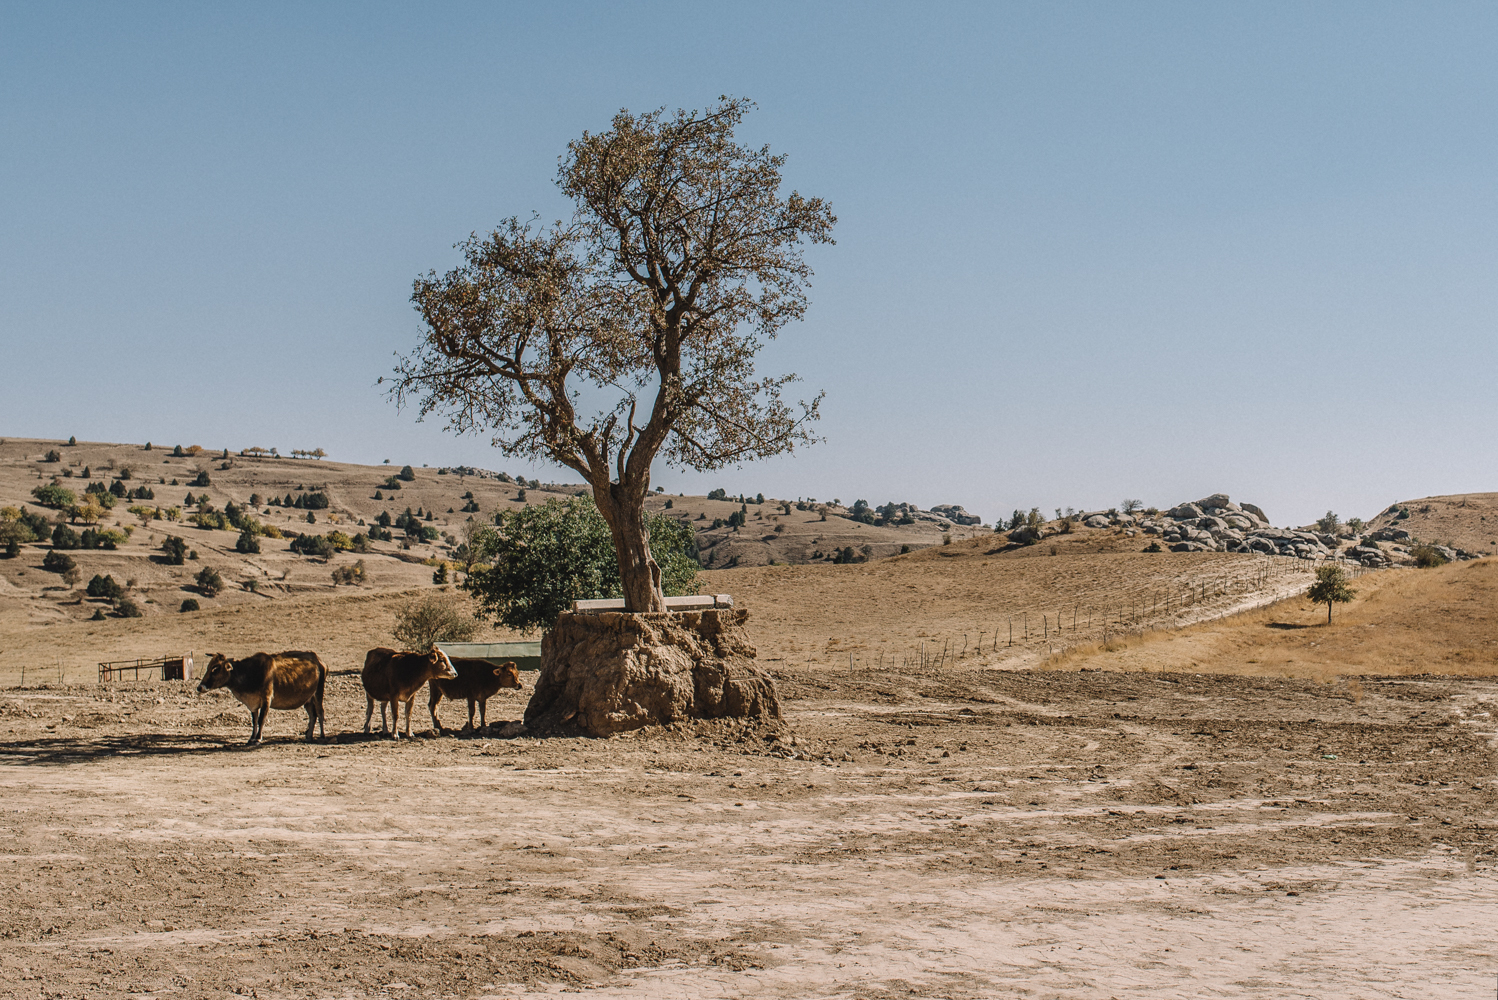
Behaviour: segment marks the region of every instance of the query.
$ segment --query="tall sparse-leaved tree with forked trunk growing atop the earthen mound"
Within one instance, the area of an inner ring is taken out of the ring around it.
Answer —
[[[785,157],[734,129],[753,105],[620,111],[568,145],[571,220],[511,217],[416,278],[421,344],[392,395],[506,455],[578,472],[608,524],[629,611],[661,611],[644,500],[658,455],[713,470],[810,443],[821,395],[755,355],[806,311],[807,243],[831,243],[819,198],[780,195]]]

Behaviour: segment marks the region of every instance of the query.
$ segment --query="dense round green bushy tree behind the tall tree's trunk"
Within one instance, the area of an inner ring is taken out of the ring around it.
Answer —
[[[695,533],[676,518],[647,518],[650,554],[661,566],[668,597],[694,593]],[[574,600],[622,597],[614,540],[593,499],[547,500],[505,510],[496,531],[485,533],[475,567],[463,587],[479,614],[508,629],[550,629]]]

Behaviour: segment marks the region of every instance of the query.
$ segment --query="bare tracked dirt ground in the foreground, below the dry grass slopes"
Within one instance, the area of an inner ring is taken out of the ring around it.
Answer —
[[[345,674],[259,749],[181,683],[6,690],[0,994],[1492,988],[1495,681],[777,678],[773,729],[397,744]]]

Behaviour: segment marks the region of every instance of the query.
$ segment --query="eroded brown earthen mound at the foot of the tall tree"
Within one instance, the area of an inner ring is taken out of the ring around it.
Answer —
[[[595,737],[686,719],[779,719],[743,609],[563,614],[541,639],[532,731]]]

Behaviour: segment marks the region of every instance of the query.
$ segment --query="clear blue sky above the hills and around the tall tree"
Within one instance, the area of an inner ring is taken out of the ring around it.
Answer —
[[[1492,4],[12,3],[0,93],[0,434],[521,472],[374,385],[412,278],[743,94],[839,216],[764,356],[827,442],[667,490],[1498,490]]]

